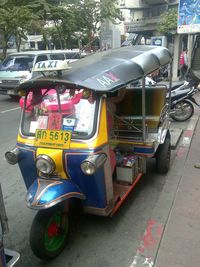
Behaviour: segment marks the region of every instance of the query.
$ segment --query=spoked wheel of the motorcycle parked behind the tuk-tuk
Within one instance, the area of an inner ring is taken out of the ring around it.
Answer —
[[[186,121],[194,114],[194,107],[190,101],[184,100],[177,103],[173,108],[170,116],[175,121]]]

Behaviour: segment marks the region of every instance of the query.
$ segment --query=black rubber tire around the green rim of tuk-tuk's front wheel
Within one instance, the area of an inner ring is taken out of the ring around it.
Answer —
[[[54,206],[46,210],[40,210],[36,214],[30,231],[29,242],[33,253],[40,259],[51,260],[58,256],[61,251],[65,248],[68,228],[65,233],[64,240],[57,250],[50,251],[45,246],[45,233],[47,232],[47,226],[50,223],[51,218],[57,213],[61,212],[62,220],[66,222],[67,227],[69,226],[68,214],[63,211],[62,206]],[[65,225],[66,226],[66,225]],[[62,230],[64,232],[64,230]]]

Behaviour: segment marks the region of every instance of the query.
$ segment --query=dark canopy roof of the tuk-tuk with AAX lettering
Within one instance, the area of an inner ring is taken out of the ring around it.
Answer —
[[[171,60],[171,54],[164,47],[122,47],[87,56],[71,63],[71,68],[57,77],[32,79],[22,84],[20,89],[29,89],[37,85],[50,86],[61,82],[77,88],[101,92],[114,91],[141,79]]]

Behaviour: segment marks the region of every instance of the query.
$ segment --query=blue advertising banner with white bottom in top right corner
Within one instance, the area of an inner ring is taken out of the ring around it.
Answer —
[[[200,32],[200,0],[179,0],[178,33]]]

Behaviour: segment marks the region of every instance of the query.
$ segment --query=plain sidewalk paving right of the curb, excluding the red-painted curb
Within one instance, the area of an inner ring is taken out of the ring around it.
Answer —
[[[154,259],[156,267],[200,266],[200,169],[194,167],[195,163],[200,163],[200,120],[188,148],[182,177]]]

